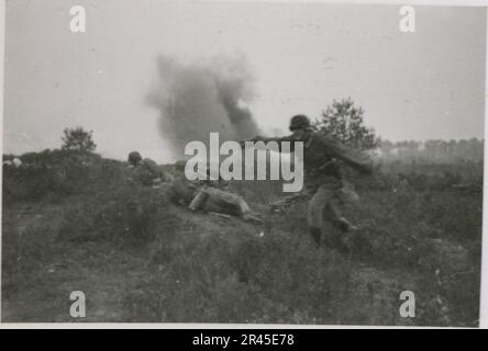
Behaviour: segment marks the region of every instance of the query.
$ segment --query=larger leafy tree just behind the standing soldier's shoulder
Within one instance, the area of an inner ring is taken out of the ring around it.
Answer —
[[[375,131],[364,125],[364,109],[355,106],[351,98],[333,100],[314,127],[353,148],[368,150],[380,144]]]

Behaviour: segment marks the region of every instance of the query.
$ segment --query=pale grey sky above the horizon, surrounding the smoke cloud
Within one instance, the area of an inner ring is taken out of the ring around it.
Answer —
[[[86,9],[71,33],[69,9]],[[260,131],[317,118],[351,97],[385,139],[484,136],[486,9],[399,5],[15,0],[7,2],[3,151],[60,146],[65,127],[93,131],[97,151],[173,161],[147,95],[164,55],[192,65],[239,58],[252,72],[247,102]],[[209,126],[209,133],[212,126]]]

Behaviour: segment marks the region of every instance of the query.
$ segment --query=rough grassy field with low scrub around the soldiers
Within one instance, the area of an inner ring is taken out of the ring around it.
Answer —
[[[79,290],[84,321],[478,324],[481,163],[396,162],[354,180],[362,229],[343,254],[312,245],[306,203],[269,212],[278,183],[230,185],[257,226],[190,213],[97,155],[22,158],[3,170],[2,321],[78,321]],[[399,314],[402,291],[414,318]]]

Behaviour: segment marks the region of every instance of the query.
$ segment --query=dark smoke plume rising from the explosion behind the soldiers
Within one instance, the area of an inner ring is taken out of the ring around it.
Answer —
[[[243,59],[218,58],[212,65],[184,65],[167,57],[157,60],[160,86],[148,102],[160,111],[159,129],[180,158],[191,140],[208,143],[249,138],[258,133],[245,103],[253,99],[252,76]]]

